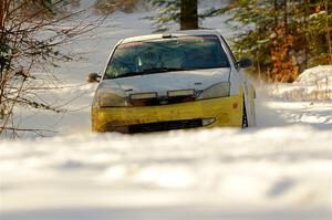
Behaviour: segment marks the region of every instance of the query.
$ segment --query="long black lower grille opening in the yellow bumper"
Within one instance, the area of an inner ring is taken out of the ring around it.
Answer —
[[[165,132],[172,129],[195,128],[201,126],[203,126],[203,119],[172,121],[172,122],[162,122],[162,123],[131,125],[128,126],[128,132],[129,134],[151,133],[151,132]]]

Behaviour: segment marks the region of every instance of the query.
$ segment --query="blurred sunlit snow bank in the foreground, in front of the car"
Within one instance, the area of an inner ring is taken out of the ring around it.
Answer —
[[[331,140],[303,126],[2,140],[2,214],[199,207],[217,217],[315,210],[328,219]]]

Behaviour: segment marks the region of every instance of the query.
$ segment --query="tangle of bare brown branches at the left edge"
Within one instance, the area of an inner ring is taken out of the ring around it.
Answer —
[[[105,19],[92,19],[86,10],[66,11],[68,6],[66,0],[0,0],[0,136],[8,124],[14,125],[15,105],[65,113],[65,106],[82,95],[53,105],[38,91],[59,88],[56,76],[48,71],[33,73],[35,67],[71,61],[73,54],[61,46]]]

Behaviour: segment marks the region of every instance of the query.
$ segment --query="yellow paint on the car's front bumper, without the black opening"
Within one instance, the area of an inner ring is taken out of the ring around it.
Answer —
[[[158,123],[168,121],[215,118],[211,127],[242,126],[242,96],[211,98],[180,104],[144,106],[144,107],[112,107],[92,109],[92,130],[104,130],[106,124],[114,127],[136,124]]]

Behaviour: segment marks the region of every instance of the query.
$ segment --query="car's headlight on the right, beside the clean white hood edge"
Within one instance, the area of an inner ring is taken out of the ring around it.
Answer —
[[[197,99],[215,98],[215,97],[227,97],[229,96],[230,83],[222,82],[215,84],[200,93]]]

